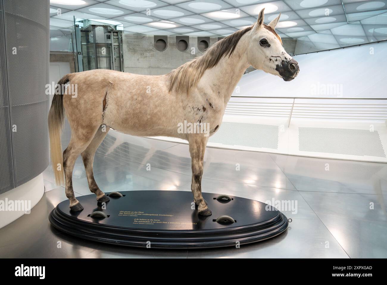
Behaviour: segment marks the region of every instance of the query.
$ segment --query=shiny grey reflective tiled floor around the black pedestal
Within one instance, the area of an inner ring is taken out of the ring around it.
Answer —
[[[69,138],[67,131],[64,146]],[[239,249],[156,250],[89,242],[50,226],[48,213],[67,198],[49,167],[43,173],[46,193],[31,214],[0,229],[0,257],[387,257],[387,164],[216,148],[207,148],[204,160],[203,192],[289,202],[291,207],[281,206],[292,219],[288,230]],[[94,160],[96,182],[106,192],[190,191],[190,168],[186,144],[115,131]],[[73,185],[76,195],[90,193],[80,158]]]

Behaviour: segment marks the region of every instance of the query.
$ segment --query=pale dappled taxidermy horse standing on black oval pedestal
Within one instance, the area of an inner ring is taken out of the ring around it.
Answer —
[[[281,38],[274,30],[279,17],[266,25],[262,10],[254,25],[223,38],[204,55],[168,74],[145,76],[96,69],[67,74],[60,79],[58,85],[77,85],[76,97],[56,92],[48,115],[55,180],[58,185],[63,185],[65,178],[71,210],[83,209],[75,199],[72,187],[72,172],[79,154],[90,191],[96,194],[98,202],[109,201],[94,180],[93,159],[106,133],[113,128],[136,136],[171,136],[188,140],[194,201],[200,215],[211,215],[201,189],[204,151],[208,137],[219,130],[236,84],[250,65],[285,81],[298,74],[297,62],[285,52]],[[63,110],[72,135],[62,155]],[[209,131],[207,135],[182,133],[178,131],[178,125],[183,122],[205,123]]]

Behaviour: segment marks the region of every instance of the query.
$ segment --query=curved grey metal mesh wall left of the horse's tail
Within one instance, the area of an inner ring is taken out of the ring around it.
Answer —
[[[0,0],[0,194],[49,163],[48,9],[48,0]]]

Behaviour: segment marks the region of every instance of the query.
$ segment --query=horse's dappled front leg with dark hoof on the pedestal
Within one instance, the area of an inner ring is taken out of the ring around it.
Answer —
[[[207,145],[208,137],[203,134],[188,135],[190,144],[190,154],[192,161],[192,184],[191,190],[194,194],[195,203],[198,205],[198,212],[202,216],[211,216],[211,211],[202,196],[202,174],[205,145]]]

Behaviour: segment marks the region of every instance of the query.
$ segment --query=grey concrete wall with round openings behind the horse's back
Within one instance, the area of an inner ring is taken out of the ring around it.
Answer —
[[[210,46],[216,43],[217,36],[210,37]],[[202,55],[197,47],[197,37],[189,37],[187,51],[181,52],[176,48],[176,36],[168,36],[168,47],[159,52],[154,47],[154,36],[142,34],[123,34],[124,71],[136,74],[160,75],[170,72],[185,62]],[[284,39],[285,50],[293,55],[296,40]],[[194,48],[195,53],[192,52]],[[248,71],[254,70],[249,67]]]

